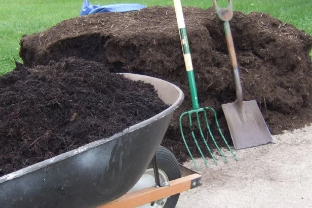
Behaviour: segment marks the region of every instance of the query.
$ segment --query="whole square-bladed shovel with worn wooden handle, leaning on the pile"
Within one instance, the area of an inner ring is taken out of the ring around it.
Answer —
[[[219,19],[223,21],[227,49],[233,67],[237,100],[221,106],[234,147],[238,150],[271,143],[272,136],[266,126],[257,102],[255,100],[243,101],[239,68],[229,26],[229,20],[233,17],[232,1],[228,0],[228,6],[225,9],[221,9],[217,5],[216,0],[213,0],[213,4]]]

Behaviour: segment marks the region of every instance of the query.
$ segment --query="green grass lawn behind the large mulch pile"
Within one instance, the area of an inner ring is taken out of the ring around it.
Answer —
[[[168,0],[124,0],[99,1],[90,0],[91,4],[138,3],[146,6],[173,6]],[[2,0],[0,13],[0,75],[14,68],[15,57],[19,58],[19,41],[24,34],[40,32],[51,26],[79,16],[83,0]],[[220,6],[226,6],[226,0],[219,0]],[[212,1],[182,0],[183,6],[201,8],[212,7]],[[312,1],[311,0],[233,0],[235,10],[248,13],[250,11],[269,13],[284,22],[295,25],[298,29],[312,34]]]

